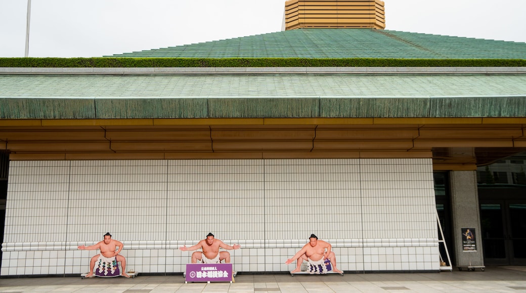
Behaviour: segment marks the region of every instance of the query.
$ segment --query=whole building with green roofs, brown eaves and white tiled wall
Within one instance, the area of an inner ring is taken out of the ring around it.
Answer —
[[[524,59],[526,44],[299,28],[114,58],[349,56]],[[106,232],[124,243],[127,268],[143,274],[183,273],[190,253],[178,247],[209,232],[241,245],[230,251],[240,273],[291,270],[285,260],[311,233],[332,244],[345,271],[483,266],[477,168],[526,149],[524,67],[0,74],[2,276],[83,273],[95,252],[77,246]],[[439,213],[437,174],[448,197]],[[476,232],[474,251],[466,228]]]

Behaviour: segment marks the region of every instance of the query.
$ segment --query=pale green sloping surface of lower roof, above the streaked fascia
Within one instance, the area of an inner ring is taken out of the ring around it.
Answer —
[[[0,98],[526,96],[518,74],[4,75]]]

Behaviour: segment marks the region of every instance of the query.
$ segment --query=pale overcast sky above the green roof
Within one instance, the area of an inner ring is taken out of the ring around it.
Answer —
[[[386,29],[526,43],[526,0],[384,0]],[[99,57],[279,32],[285,0],[32,0],[29,57]],[[24,57],[27,0],[0,0],[0,57]]]

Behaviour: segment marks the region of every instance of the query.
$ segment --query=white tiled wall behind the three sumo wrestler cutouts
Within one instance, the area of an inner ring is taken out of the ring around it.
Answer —
[[[430,159],[13,161],[2,275],[79,274],[106,232],[127,269],[180,273],[212,232],[237,271],[286,271],[311,233],[343,270],[438,270]]]

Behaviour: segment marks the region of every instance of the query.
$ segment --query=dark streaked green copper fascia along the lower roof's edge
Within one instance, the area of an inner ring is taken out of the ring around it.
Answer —
[[[524,97],[0,99],[0,119],[526,117]]]

